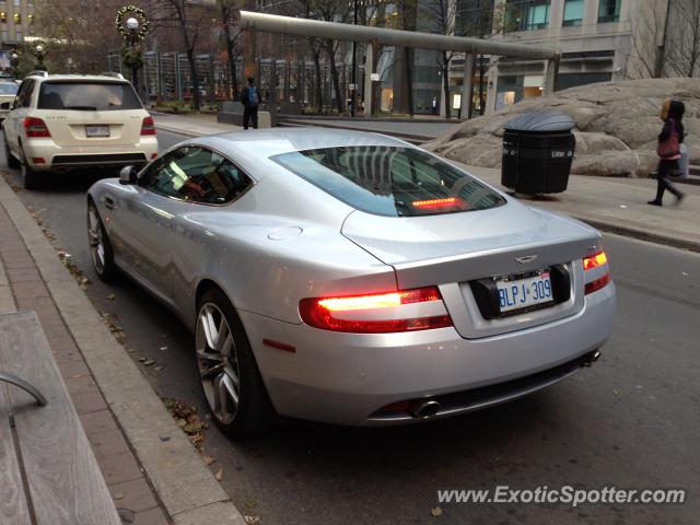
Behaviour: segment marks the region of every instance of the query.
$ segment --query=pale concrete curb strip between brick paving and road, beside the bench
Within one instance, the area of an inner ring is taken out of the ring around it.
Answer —
[[[0,202],[173,523],[244,525],[238,510],[3,177]]]

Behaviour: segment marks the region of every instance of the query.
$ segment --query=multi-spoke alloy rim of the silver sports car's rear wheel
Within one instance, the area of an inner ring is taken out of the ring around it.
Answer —
[[[205,303],[197,316],[197,364],[201,384],[214,418],[231,423],[238,411],[241,372],[233,332],[214,303]]]

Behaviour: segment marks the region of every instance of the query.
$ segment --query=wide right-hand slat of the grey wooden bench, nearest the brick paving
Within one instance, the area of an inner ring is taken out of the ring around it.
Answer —
[[[37,525],[120,525],[114,502],[34,312],[0,316],[0,369],[37,387],[10,389]]]

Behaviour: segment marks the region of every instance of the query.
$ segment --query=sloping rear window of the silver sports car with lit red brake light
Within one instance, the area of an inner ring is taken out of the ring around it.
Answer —
[[[476,178],[415,148],[323,148],[271,160],[347,205],[377,215],[434,215],[505,202]]]

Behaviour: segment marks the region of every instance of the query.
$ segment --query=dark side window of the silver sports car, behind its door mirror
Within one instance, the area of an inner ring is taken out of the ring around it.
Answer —
[[[141,186],[161,195],[206,205],[223,205],[252,180],[231,161],[206,148],[186,145],[154,162]]]

